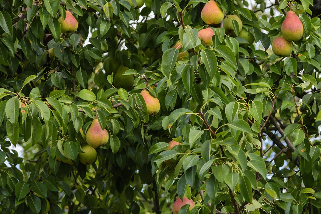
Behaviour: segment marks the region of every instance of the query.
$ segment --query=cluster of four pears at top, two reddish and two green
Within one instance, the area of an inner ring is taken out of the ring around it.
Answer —
[[[202,9],[201,18],[206,24],[219,24],[224,19],[224,11],[221,9],[219,5],[213,0],[208,1]],[[239,34],[236,35],[233,28],[233,20],[238,23],[239,26]],[[239,36],[247,40],[248,44],[252,44],[254,42],[254,36],[248,32],[245,28],[243,28],[243,23],[241,19],[237,15],[227,15],[223,21],[223,27],[225,29],[225,33],[230,36]],[[212,36],[214,32],[211,28],[206,28],[200,30],[198,33],[198,37],[204,44],[213,45]]]

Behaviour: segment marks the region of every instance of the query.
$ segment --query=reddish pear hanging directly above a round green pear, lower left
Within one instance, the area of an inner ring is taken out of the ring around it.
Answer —
[[[102,130],[97,119],[94,119],[87,130],[86,141],[92,148],[103,146],[109,138],[106,129]]]

